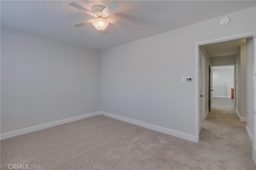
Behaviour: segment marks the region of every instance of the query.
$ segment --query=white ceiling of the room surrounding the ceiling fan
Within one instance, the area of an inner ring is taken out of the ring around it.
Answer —
[[[69,6],[76,2],[89,10],[110,1],[0,1],[1,25],[48,36],[93,49],[106,49],[256,5],[255,1],[114,1],[120,8],[109,17],[130,22],[130,28],[110,24],[101,36],[91,24],[73,24],[92,16]]]

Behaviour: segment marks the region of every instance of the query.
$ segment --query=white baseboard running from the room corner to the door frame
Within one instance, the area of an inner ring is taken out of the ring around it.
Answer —
[[[122,116],[114,115],[112,113],[107,113],[107,112],[103,112],[103,111],[100,111],[100,115],[105,115],[105,116],[108,116],[108,117],[111,117],[111,118],[114,118],[114,119],[118,119],[120,121],[132,123],[134,125],[138,125],[138,126],[141,126],[141,127],[149,128],[149,129],[152,129],[152,130],[156,130],[158,132],[170,134],[172,136],[176,136],[176,137],[179,137],[179,138],[183,138],[183,139],[186,139],[186,140],[190,140],[190,141],[196,142],[196,136],[192,135],[192,134],[187,134],[187,133],[184,133],[184,132],[179,132],[179,131],[172,130],[172,129],[169,129],[169,128],[160,127],[160,126],[157,126],[157,125],[152,125],[150,123],[145,123],[145,122],[142,122],[142,121],[137,121],[135,119],[130,119],[130,118],[127,118],[127,117],[122,117]]]

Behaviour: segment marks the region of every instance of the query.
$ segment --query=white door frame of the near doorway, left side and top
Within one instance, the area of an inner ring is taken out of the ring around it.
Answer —
[[[201,59],[200,57],[200,45],[206,45],[206,44],[211,44],[211,43],[219,43],[219,42],[226,42],[226,41],[231,41],[231,40],[238,40],[238,39],[241,39],[241,38],[250,38],[250,37],[253,37],[255,38],[255,32],[248,32],[248,33],[245,33],[245,34],[239,34],[239,35],[234,35],[234,36],[228,36],[228,37],[223,37],[223,38],[218,38],[218,39],[214,39],[214,40],[206,40],[206,41],[203,41],[203,42],[196,42],[195,43],[195,47],[196,47],[196,53],[195,53],[195,57],[196,57],[196,73],[195,73],[195,83],[196,83],[196,89],[195,89],[195,92],[196,92],[196,95],[195,95],[195,104],[196,104],[196,112],[195,112],[195,116],[196,116],[196,126],[195,126],[195,142],[199,142],[199,132],[200,132],[200,120],[199,118],[201,117],[199,114],[199,108],[201,107],[201,103],[198,102],[199,101],[199,97],[200,97],[200,82],[199,82],[199,79],[198,79],[198,75],[199,75],[199,71],[200,71],[200,61],[199,59]],[[255,115],[255,114],[254,114]],[[254,128],[255,128],[255,124],[254,124]],[[255,136],[255,135],[254,135]]]

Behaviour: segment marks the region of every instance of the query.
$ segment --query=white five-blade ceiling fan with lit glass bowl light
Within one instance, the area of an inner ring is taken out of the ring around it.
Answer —
[[[120,7],[118,4],[116,4],[113,1],[110,1],[106,7],[100,6],[100,5],[94,6],[92,11],[80,6],[76,2],[70,2],[68,5],[74,7],[78,10],[84,11],[87,14],[90,14],[91,16],[95,17],[95,19],[86,20],[86,21],[74,24],[74,26],[76,26],[76,27],[80,27],[80,26],[84,26],[86,24],[92,23],[92,25],[97,30],[101,30],[102,34],[105,35],[105,34],[108,34],[108,30],[106,29],[106,27],[108,26],[109,23],[123,26],[126,28],[128,28],[130,26],[129,22],[124,22],[124,21],[108,18],[108,16],[110,14],[112,14],[115,10],[117,10]]]

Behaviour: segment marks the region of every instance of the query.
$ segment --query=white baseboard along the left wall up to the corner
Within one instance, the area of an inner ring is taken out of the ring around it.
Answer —
[[[42,125],[36,125],[36,126],[33,126],[33,127],[27,127],[27,128],[22,128],[22,129],[19,129],[19,130],[14,130],[14,131],[11,131],[11,132],[5,132],[5,133],[0,134],[0,139],[2,140],[2,139],[18,136],[18,135],[21,135],[21,134],[34,132],[34,131],[42,130],[42,129],[49,128],[49,127],[54,127],[54,126],[61,125],[61,124],[64,124],[64,123],[78,121],[80,119],[85,119],[85,118],[96,116],[96,115],[99,115],[99,114],[100,114],[100,111],[97,111],[97,112],[88,113],[88,114],[84,114],[84,115],[80,115],[80,116],[76,116],[76,117],[70,117],[68,119],[62,119],[60,121],[54,121],[54,122],[50,122],[50,123],[44,123]]]

